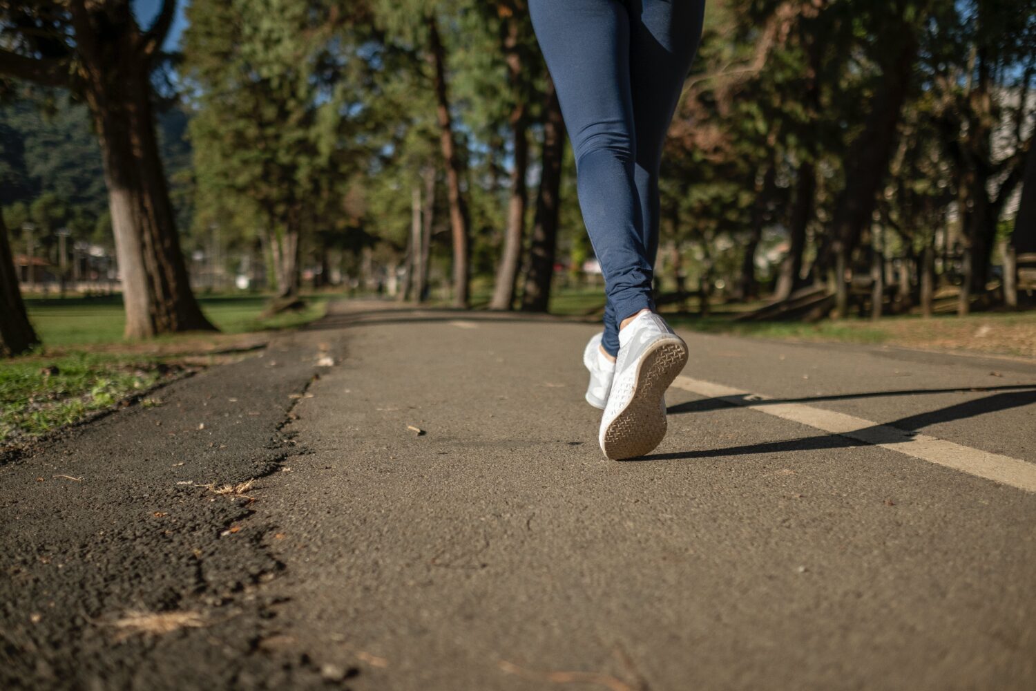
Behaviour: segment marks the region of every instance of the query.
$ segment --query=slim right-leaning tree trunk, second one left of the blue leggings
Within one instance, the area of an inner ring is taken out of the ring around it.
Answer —
[[[510,310],[514,307],[515,285],[518,281],[518,265],[521,261],[522,235],[525,232],[525,207],[528,193],[525,175],[528,172],[528,119],[526,117],[525,94],[521,93],[521,54],[519,52],[519,31],[521,23],[512,16],[508,21],[508,35],[503,50],[508,63],[508,79],[514,90],[515,108],[511,112],[511,127],[514,133],[514,168],[511,171],[511,200],[508,203],[508,229],[503,237],[503,254],[496,269],[496,286],[490,310]]]

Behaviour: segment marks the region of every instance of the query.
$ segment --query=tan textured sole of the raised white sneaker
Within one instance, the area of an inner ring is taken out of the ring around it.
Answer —
[[[687,364],[687,346],[664,339],[641,355],[633,395],[604,431],[601,448],[612,460],[651,453],[665,438],[665,406],[659,401]]]

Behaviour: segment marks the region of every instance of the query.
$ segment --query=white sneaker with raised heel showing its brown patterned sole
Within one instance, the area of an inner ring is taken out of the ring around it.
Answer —
[[[657,314],[618,333],[618,358],[598,440],[610,459],[650,453],[665,437],[665,390],[687,364],[687,344]]]

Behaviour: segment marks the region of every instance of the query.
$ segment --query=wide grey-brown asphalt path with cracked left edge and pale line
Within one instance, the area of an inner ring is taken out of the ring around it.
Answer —
[[[684,334],[613,462],[594,330],[342,304],[0,466],[0,683],[1036,685],[1036,364]]]

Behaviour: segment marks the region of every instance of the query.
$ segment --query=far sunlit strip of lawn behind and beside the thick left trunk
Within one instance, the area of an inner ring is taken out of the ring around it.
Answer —
[[[306,298],[299,312],[263,318],[267,298],[261,295],[200,297],[202,311],[225,334],[293,328],[323,316],[328,296]],[[125,315],[118,295],[106,297],[34,298],[26,300],[29,318],[46,346],[119,343]],[[165,339],[176,337],[164,337]]]

